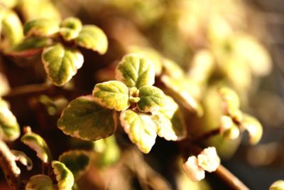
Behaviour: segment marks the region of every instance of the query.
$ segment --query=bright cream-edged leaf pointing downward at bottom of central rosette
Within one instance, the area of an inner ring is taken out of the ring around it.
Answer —
[[[119,119],[131,142],[135,143],[141,152],[150,152],[157,137],[157,127],[151,120],[151,115],[126,110],[121,112]]]

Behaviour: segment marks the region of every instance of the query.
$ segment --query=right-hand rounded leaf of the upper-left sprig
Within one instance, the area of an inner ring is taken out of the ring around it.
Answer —
[[[107,36],[101,28],[93,25],[84,25],[75,43],[83,48],[97,51],[99,54],[107,52]]]

